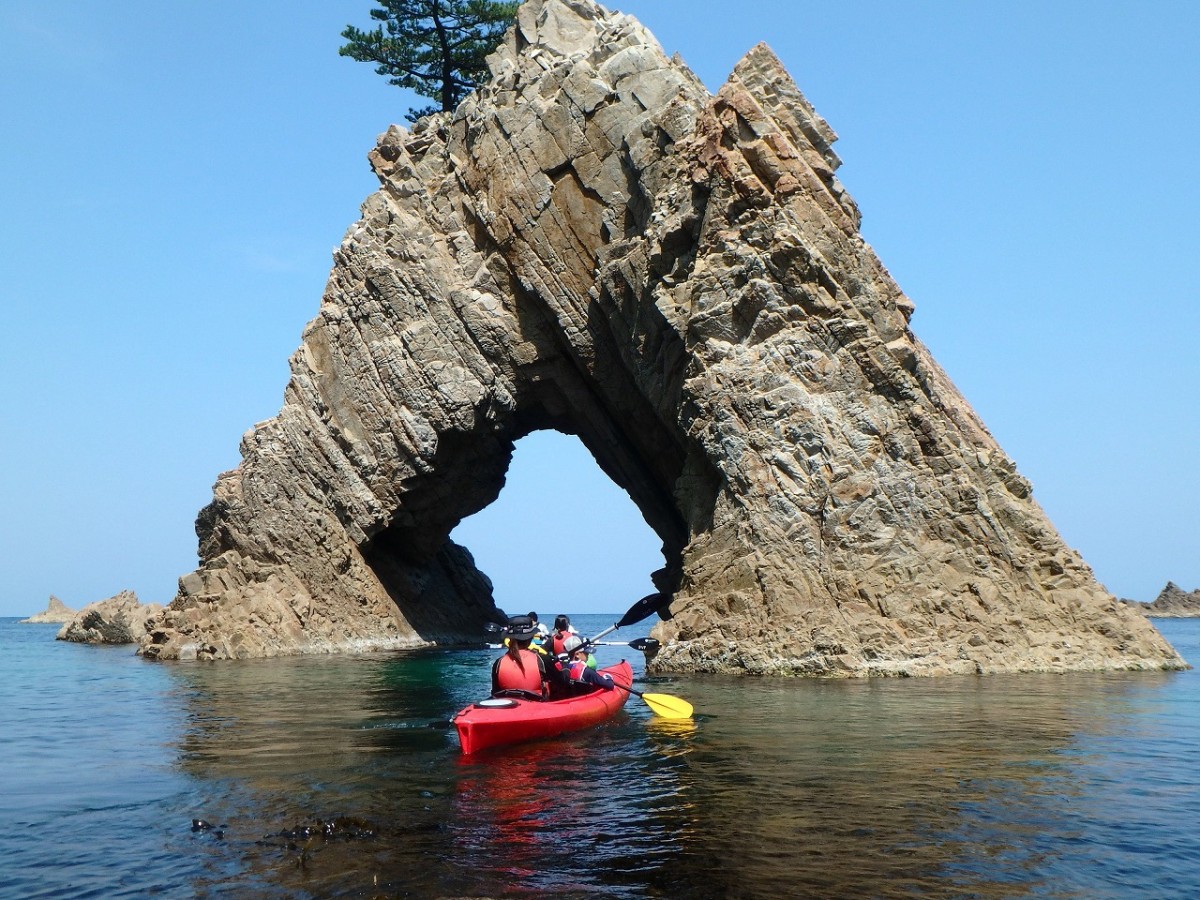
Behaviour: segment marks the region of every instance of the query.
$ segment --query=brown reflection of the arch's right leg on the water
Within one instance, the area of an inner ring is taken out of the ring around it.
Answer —
[[[1055,893],[1039,872],[1079,839],[1084,790],[1064,751],[1128,690],[1170,678],[692,682],[714,715],[678,773],[688,839],[652,881],[695,896]]]

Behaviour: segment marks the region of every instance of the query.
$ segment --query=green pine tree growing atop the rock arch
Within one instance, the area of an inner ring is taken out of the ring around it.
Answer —
[[[342,37],[349,43],[338,54],[374,62],[390,84],[438,101],[409,110],[406,118],[415,122],[430,113],[452,112],[487,78],[485,59],[516,19],[517,6],[488,0],[383,0],[382,8],[371,10],[380,24],[371,31],[347,25]]]

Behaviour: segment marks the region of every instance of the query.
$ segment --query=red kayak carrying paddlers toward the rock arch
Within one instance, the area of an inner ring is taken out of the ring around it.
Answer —
[[[634,683],[634,670],[622,660],[614,666],[601,668],[617,684]],[[490,746],[518,744],[526,740],[552,738],[569,731],[590,728],[625,706],[628,691],[620,688],[594,690],[566,700],[522,700],[498,697],[482,700],[461,709],[454,718],[458,730],[458,743],[464,754],[478,754]]]

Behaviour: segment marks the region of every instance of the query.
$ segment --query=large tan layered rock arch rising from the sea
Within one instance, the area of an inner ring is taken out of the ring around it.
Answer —
[[[557,428],[662,539],[658,670],[1184,665],[910,330],[766,46],[714,97],[632,18],[529,0],[491,64],[370,154],[382,188],[146,655],[473,637],[490,584],[448,535]]]

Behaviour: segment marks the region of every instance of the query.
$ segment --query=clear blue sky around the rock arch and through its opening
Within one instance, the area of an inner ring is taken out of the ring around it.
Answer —
[[[337,55],[371,6],[0,2],[0,616],[166,602],[194,568],[366,152],[416,102]],[[913,330],[1067,542],[1120,595],[1200,587],[1200,4],[618,8],[714,90],[767,41],[841,136]],[[510,611],[619,611],[660,564],[574,438],[522,442],[476,520],[456,536]]]

